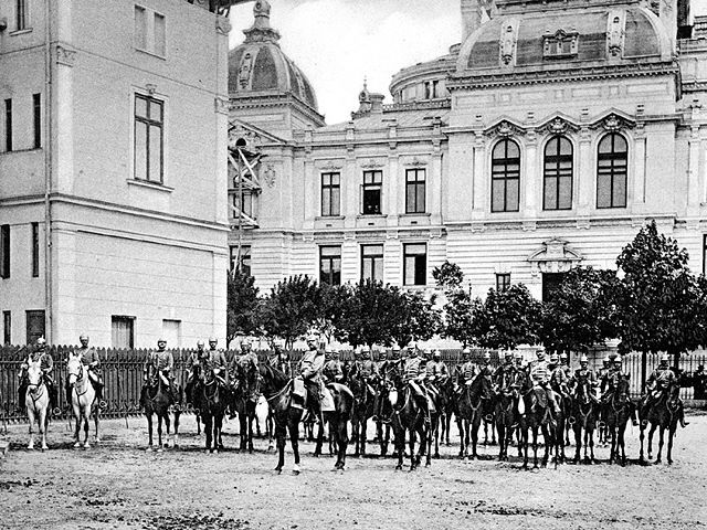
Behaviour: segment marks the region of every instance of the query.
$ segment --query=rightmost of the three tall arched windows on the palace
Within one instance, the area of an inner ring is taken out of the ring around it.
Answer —
[[[597,208],[626,208],[629,146],[610,132],[599,142],[597,153]]]

